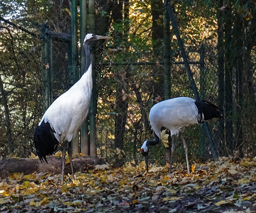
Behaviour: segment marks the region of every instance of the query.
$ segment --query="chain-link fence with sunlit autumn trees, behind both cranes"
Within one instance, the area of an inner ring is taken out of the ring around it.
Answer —
[[[72,85],[70,73],[77,68],[72,67],[71,5],[68,1],[59,4],[53,1],[44,5],[45,16],[40,21],[47,25],[37,25],[37,37],[1,22],[5,50],[0,63],[3,157],[24,157],[34,152],[34,127],[49,104]],[[200,97],[218,105],[225,115],[224,121],[209,123],[216,153],[223,156],[239,150],[241,155],[255,156],[255,43],[241,47],[241,62],[240,55],[228,52],[230,48],[231,52],[239,51],[226,41],[229,34],[224,31],[228,28],[222,28],[227,17],[216,10],[217,5],[212,5],[212,10],[203,4],[173,5]],[[91,6],[89,1],[88,10]],[[89,31],[94,22],[96,34],[113,37],[95,46],[97,155],[114,164],[137,163],[142,159],[139,150],[143,141],[154,135],[148,113],[156,99],[194,98],[194,93],[172,25],[166,25],[168,17],[161,2],[96,1],[94,7],[91,11],[95,11],[95,19],[88,16]],[[78,17],[80,11],[78,7]],[[249,25],[254,17],[246,21]],[[241,34],[247,36],[247,32]],[[170,45],[168,75],[166,43]],[[78,51],[80,48],[78,45]],[[81,57],[76,60],[75,66],[81,63]],[[166,93],[166,76],[170,97]],[[89,132],[92,128],[89,121]],[[184,138],[190,160],[212,158],[213,148],[201,125],[187,128]],[[166,159],[163,145],[151,148],[150,153],[152,160]],[[185,161],[180,139],[176,140],[176,160]]]

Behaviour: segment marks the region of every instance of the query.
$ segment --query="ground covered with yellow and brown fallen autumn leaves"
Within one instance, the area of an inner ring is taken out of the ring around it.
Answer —
[[[144,163],[68,175],[13,174],[0,180],[0,212],[256,212],[256,158],[178,167]]]

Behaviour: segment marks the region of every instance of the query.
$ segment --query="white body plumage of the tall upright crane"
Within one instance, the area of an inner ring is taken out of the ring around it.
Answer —
[[[59,143],[71,141],[88,115],[92,94],[91,76],[92,64],[79,81],[52,103],[38,124],[49,122]]]

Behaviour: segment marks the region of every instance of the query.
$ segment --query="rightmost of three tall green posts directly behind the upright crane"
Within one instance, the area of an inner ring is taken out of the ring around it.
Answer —
[[[88,4],[88,15],[89,15],[89,33],[95,33],[95,13],[94,13],[94,0],[89,0]],[[95,47],[92,45],[91,50],[92,59],[92,78],[93,88],[90,105],[90,155],[97,156],[96,147],[96,126],[95,126],[95,115],[96,115],[96,70],[95,70]]]

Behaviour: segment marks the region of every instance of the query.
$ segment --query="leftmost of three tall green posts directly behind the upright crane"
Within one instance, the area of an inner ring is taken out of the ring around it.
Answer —
[[[71,2],[71,67],[69,70],[69,86],[72,86],[79,79],[77,67],[77,1]],[[79,153],[79,135],[72,139],[73,153]]]

